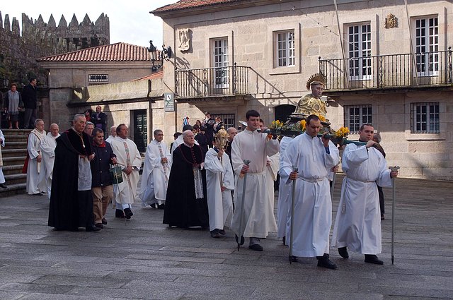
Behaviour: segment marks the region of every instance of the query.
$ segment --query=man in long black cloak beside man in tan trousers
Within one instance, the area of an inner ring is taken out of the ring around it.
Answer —
[[[85,227],[87,232],[96,232],[100,228],[93,224],[89,162],[95,155],[84,133],[84,114],[76,114],[72,122],[57,138],[48,225],[56,230],[76,232]]]

